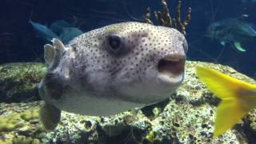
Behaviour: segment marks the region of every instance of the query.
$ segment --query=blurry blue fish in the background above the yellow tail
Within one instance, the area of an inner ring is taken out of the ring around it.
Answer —
[[[256,30],[252,23],[246,22],[247,17],[248,15],[244,14],[240,18],[227,18],[214,22],[208,27],[206,35],[218,39],[223,46],[231,43],[237,50],[246,51],[241,43],[256,40]]]

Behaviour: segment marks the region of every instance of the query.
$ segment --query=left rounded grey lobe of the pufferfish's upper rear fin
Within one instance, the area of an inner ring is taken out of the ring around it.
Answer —
[[[54,50],[54,46],[46,44],[44,46],[44,59],[48,66],[50,66],[52,62],[54,62],[55,55],[56,51]]]

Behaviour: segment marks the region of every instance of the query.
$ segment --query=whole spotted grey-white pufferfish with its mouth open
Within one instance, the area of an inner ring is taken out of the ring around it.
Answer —
[[[54,130],[61,110],[107,116],[168,98],[184,78],[186,38],[178,30],[122,22],[44,46],[39,118]]]

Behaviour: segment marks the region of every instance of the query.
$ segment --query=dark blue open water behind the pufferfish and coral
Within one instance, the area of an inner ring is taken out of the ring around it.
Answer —
[[[3,0],[0,6],[0,63],[43,62],[43,45],[29,20],[50,26],[57,20],[74,23],[86,32],[117,22],[143,20],[146,8],[162,10],[160,0]],[[168,0],[172,14],[177,1]],[[231,45],[222,46],[206,37],[211,23],[248,14],[256,25],[256,2],[253,0],[183,0],[182,17],[192,8],[192,20],[186,28],[189,60],[214,62],[256,78],[256,41],[247,42],[246,52]]]

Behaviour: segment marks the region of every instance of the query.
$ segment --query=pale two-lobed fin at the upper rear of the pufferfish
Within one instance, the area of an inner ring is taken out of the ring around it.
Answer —
[[[53,45],[46,44],[44,46],[44,59],[47,66],[54,68],[58,65],[60,56],[65,50],[64,44],[57,38],[53,38]]]

